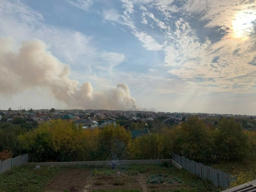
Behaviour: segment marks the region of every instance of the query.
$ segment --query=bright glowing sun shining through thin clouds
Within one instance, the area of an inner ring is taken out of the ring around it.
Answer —
[[[232,31],[233,38],[238,38],[241,40],[248,39],[248,34],[253,30],[253,20],[256,19],[255,10],[244,10],[239,11],[233,22],[232,22]]]

